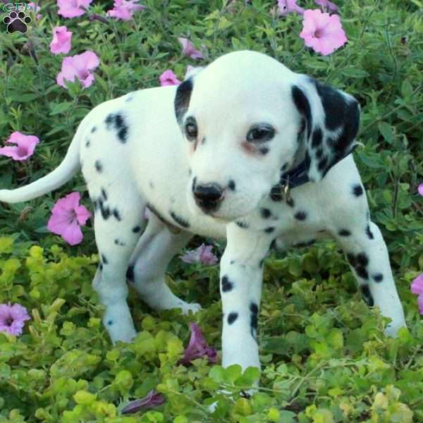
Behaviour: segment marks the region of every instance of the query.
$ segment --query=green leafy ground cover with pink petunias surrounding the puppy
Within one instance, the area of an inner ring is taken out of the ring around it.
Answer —
[[[188,250],[200,250],[173,259],[168,283],[204,309],[152,312],[131,291],[140,333],[111,345],[91,288],[92,205],[77,176],[51,195],[0,204],[0,422],[423,422],[422,1],[3,3],[0,189],[55,168],[92,107],[177,84],[188,66],[229,51],[263,51],[353,94],[362,107],[354,155],[407,329],[384,336],[386,319],[363,302],[334,243],[271,252],[262,374],[223,369],[215,257],[224,245],[195,238]],[[339,16],[329,47],[303,24],[310,9]],[[63,223],[55,204],[78,223]]]

